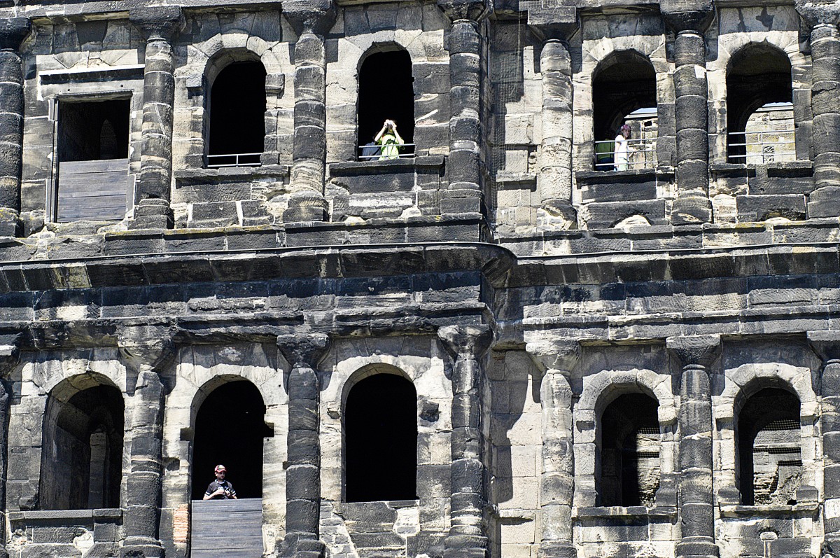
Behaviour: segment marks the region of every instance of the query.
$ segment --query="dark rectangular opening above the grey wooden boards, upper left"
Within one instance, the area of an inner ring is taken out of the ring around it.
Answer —
[[[128,159],[129,110],[129,99],[60,102],[58,160]]]

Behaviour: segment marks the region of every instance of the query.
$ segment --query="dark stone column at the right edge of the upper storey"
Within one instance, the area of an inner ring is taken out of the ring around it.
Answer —
[[[796,2],[811,27],[811,142],[814,151],[814,192],[808,197],[808,217],[840,215],[840,7]]]

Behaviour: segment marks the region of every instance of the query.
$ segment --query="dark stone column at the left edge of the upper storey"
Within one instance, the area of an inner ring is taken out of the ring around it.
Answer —
[[[24,66],[18,48],[29,26],[29,18],[0,19],[0,236],[15,236],[20,229]]]

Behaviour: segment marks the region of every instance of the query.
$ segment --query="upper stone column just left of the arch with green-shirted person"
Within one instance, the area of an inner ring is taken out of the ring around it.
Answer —
[[[324,35],[335,23],[332,0],[283,4],[283,15],[297,33],[295,43],[295,137],[291,154],[291,197],[286,223],[323,221],[327,160],[327,55]]]

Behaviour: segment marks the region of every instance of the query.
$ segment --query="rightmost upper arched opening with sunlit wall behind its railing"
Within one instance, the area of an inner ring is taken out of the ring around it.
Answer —
[[[727,67],[729,162],[795,161],[790,60],[767,43],[747,45]]]

